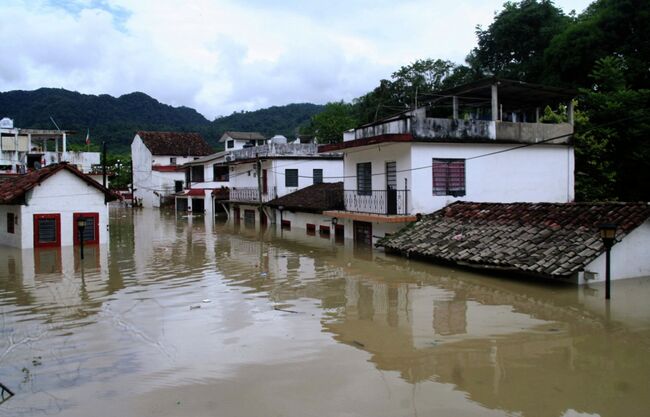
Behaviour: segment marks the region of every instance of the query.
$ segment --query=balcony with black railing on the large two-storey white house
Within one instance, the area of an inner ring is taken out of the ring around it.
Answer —
[[[344,190],[344,210],[330,210],[323,214],[361,221],[400,223],[414,221],[409,214],[410,190]]]

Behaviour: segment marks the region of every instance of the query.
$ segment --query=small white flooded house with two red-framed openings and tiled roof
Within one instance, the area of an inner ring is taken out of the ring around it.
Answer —
[[[119,197],[75,167],[60,163],[0,177],[0,245],[17,248],[108,242],[108,202]]]

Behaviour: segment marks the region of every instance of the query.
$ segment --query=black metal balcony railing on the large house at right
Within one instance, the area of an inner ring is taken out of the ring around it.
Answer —
[[[406,215],[410,190],[345,190],[345,210],[355,213]]]

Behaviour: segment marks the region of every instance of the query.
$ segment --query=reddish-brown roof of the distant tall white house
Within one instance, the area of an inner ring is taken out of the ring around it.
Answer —
[[[152,155],[205,156],[214,152],[198,133],[139,131],[137,135]]]

